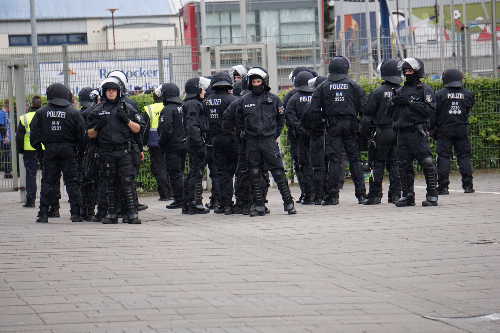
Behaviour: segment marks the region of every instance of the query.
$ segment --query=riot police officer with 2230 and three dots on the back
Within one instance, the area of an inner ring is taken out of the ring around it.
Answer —
[[[475,103],[472,92],[463,88],[462,75],[458,69],[442,72],[444,88],[436,92],[436,114],[430,128],[436,127],[437,193],[448,194],[451,147],[455,151],[456,164],[462,176],[464,193],[473,193],[472,166],[468,138],[468,115]]]

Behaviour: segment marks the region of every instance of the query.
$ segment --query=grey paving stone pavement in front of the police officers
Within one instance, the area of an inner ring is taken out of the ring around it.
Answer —
[[[142,198],[143,224],[34,223],[0,194],[0,332],[500,332],[500,174],[458,178],[439,206],[340,204],[265,217],[181,215]],[[384,183],[384,188],[387,184]],[[298,188],[292,187],[298,197]],[[205,194],[205,197],[208,197]],[[385,199],[384,199],[385,201]]]

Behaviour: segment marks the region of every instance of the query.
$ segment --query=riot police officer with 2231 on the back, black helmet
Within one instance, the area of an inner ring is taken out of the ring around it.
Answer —
[[[54,185],[62,179],[69,196],[71,222],[81,222],[76,149],[85,132],[81,113],[70,105],[69,89],[53,83],[47,88],[49,105],[36,110],[30,124],[30,145],[43,156],[40,210],[36,222],[48,222]],[[42,151],[41,145],[45,146]]]

